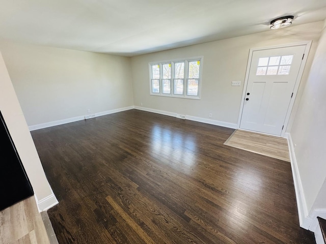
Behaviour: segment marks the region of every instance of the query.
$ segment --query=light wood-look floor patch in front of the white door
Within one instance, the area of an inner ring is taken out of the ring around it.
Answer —
[[[236,130],[224,145],[290,162],[287,140],[282,137]]]

